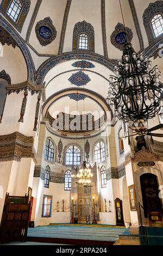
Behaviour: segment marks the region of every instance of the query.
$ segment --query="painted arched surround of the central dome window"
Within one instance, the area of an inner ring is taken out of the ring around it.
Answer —
[[[79,35],[86,33],[89,36],[89,49],[86,51],[95,52],[95,32],[94,28],[90,23],[86,21],[78,22],[73,29],[73,51],[80,50],[78,48]]]

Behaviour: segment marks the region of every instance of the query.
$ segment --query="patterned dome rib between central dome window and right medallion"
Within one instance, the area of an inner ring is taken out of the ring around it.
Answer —
[[[102,22],[104,57],[108,58],[108,48],[107,48],[107,42],[106,42],[106,26],[105,26],[105,0],[101,0],[101,22]]]

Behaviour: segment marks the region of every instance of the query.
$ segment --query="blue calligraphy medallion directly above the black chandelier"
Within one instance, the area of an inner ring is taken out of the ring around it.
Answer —
[[[130,28],[125,28],[123,24],[118,23],[115,27],[115,31],[110,36],[111,44],[116,48],[123,51],[124,44],[131,42],[133,38],[133,32]],[[128,40],[127,40],[128,39]]]

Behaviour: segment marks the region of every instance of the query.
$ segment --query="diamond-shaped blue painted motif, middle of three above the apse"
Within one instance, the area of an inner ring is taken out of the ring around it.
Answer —
[[[84,74],[82,71],[79,71],[76,74],[72,74],[68,81],[70,81],[71,84],[74,84],[75,86],[84,86],[91,80],[88,75]]]

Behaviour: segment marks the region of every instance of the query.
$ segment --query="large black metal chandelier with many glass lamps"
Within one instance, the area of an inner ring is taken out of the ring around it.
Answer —
[[[106,102],[115,108],[115,117],[142,124],[159,114],[163,119],[163,84],[158,66],[137,54],[130,43],[124,46],[122,60],[110,75]]]

